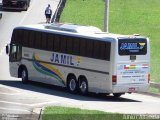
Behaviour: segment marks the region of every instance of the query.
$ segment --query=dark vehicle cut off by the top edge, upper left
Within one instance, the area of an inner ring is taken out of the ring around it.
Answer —
[[[2,0],[3,9],[17,9],[27,11],[30,6],[30,0]]]

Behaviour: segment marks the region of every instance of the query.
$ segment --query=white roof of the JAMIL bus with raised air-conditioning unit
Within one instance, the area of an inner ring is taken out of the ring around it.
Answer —
[[[93,26],[81,26],[77,24],[64,24],[64,23],[52,23],[52,24],[35,24],[35,25],[24,25],[16,27],[15,29],[28,29],[36,31],[44,31],[57,34],[67,34],[73,36],[83,37],[96,37],[100,39],[110,38],[146,38],[137,34],[134,35],[120,35],[113,33],[102,32],[99,28]]]

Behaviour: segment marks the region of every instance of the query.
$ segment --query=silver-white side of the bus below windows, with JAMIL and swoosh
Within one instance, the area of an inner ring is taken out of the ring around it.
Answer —
[[[67,61],[61,60],[64,55],[66,58],[72,57],[74,64],[67,65]],[[77,79],[80,75],[86,77],[90,92],[111,91],[109,61],[27,48],[23,50],[23,57],[23,62],[29,69],[29,79],[33,81],[66,86],[67,75],[73,73]]]

